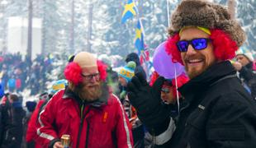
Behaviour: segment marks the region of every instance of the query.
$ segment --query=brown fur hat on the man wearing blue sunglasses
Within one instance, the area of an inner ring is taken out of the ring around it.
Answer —
[[[171,23],[168,29],[170,36],[184,26],[201,26],[210,30],[224,30],[238,47],[246,39],[244,30],[237,21],[231,20],[230,12],[224,6],[206,0],[183,0],[173,12]]]

